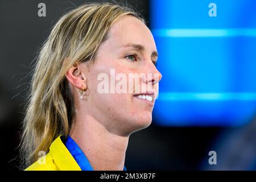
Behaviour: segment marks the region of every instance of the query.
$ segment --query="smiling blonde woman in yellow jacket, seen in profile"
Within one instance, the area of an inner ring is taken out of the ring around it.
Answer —
[[[32,77],[21,150],[27,170],[125,169],[130,134],[152,120],[162,77],[156,59],[150,30],[128,7],[91,3],[65,14]],[[142,76],[121,81],[129,89],[120,93],[108,85],[116,74]]]

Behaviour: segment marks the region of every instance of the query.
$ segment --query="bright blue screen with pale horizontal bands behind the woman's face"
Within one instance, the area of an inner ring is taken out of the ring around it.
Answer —
[[[208,7],[217,5],[217,16]],[[241,126],[256,111],[255,1],[150,2],[160,126]]]

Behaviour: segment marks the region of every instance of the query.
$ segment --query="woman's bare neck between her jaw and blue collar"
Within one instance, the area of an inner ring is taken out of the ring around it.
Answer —
[[[70,136],[79,145],[94,170],[123,170],[129,137],[110,133],[90,115],[72,122]]]

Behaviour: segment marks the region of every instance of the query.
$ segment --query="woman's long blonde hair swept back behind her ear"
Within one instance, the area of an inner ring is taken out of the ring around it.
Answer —
[[[69,11],[52,28],[31,72],[20,142],[22,167],[36,162],[39,151],[48,152],[59,135],[69,134],[75,108],[65,73],[77,63],[93,60],[109,28],[125,15],[145,23],[128,6],[90,3]]]

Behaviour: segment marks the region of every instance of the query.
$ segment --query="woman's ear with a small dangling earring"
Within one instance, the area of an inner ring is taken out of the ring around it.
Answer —
[[[86,77],[84,72],[82,72],[82,65],[80,63],[70,68],[65,76],[67,77],[68,81],[77,89],[84,88],[84,90],[86,90]]]

